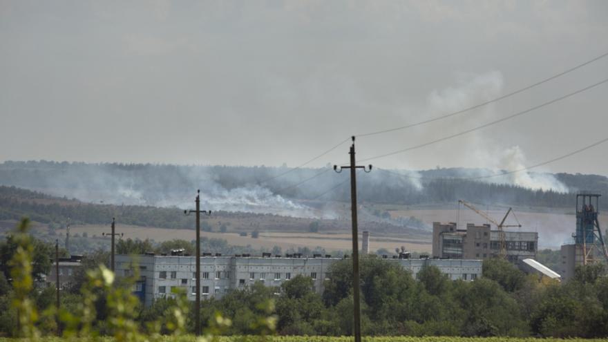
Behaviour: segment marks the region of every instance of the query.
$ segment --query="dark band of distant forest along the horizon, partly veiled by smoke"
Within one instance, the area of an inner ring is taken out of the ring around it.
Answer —
[[[0,182],[28,189],[56,189],[73,193],[98,193],[111,189],[120,193],[125,187],[140,193],[140,200],[156,205],[165,197],[194,191],[205,184],[226,189],[267,188],[272,193],[307,200],[344,182],[348,175],[325,173],[303,187],[291,187],[319,173],[319,169],[298,169],[281,177],[285,167],[178,166],[169,164],[86,164],[67,162],[3,162]],[[491,182],[494,178],[458,180],[486,175],[483,169],[435,169],[408,175],[374,171],[377,175],[359,178],[360,198],[366,202],[417,205],[453,203],[459,199],[531,207],[571,207],[573,193],[592,190],[608,193],[608,178],[602,175],[556,173],[551,175],[569,189],[532,190],[511,184]],[[417,178],[421,178],[418,180]],[[496,180],[495,180],[496,181]],[[418,184],[417,184],[418,183]],[[420,186],[420,187],[419,187]],[[338,187],[319,200],[348,200],[348,186]]]

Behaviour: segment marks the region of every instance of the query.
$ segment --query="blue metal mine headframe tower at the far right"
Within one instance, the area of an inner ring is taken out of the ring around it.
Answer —
[[[598,256],[608,261],[608,251],[598,221],[599,193],[580,191],[576,194],[576,233],[572,234],[582,265],[594,263]],[[580,262],[580,261],[579,261]]]

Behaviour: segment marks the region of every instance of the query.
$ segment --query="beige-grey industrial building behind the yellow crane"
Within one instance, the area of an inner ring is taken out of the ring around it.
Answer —
[[[456,222],[433,222],[433,258],[484,259],[500,255],[500,231],[490,225],[468,223],[458,229]],[[538,233],[502,231],[505,257],[512,263],[536,258]]]

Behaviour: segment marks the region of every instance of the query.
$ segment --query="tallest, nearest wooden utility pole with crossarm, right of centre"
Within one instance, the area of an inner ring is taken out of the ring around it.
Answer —
[[[350,146],[350,166],[339,167],[334,165],[334,171],[341,173],[342,169],[350,169],[350,200],[351,200],[351,215],[352,215],[352,299],[354,301],[354,342],[361,342],[361,302],[359,293],[361,292],[359,284],[359,231],[357,231],[357,169],[363,169],[366,173],[372,171],[372,165],[369,169],[365,166],[355,165],[354,160],[354,135],[352,136],[352,145]]]

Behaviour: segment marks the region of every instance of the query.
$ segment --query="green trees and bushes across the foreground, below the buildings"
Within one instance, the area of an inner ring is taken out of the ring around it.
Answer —
[[[0,272],[2,336],[37,339],[62,333],[76,340],[113,336],[107,341],[116,342],[182,341],[177,338],[184,336],[183,341],[191,341],[185,334],[193,332],[193,303],[186,301],[184,287],[142,307],[131,293],[137,265],[132,265],[133,278],[115,278],[99,265],[107,259],[104,254],[83,260],[82,274],[75,274],[73,286],[63,292],[57,312],[53,288],[33,286],[35,251],[27,227],[28,220],[23,219],[15,231],[15,253],[7,263],[12,286]],[[352,334],[351,263],[345,259],[330,267],[323,296],[310,276],[298,275],[281,287],[255,283],[204,301],[200,323],[205,338],[198,342],[265,341],[265,336],[276,333],[285,337],[272,341],[351,341],[319,337]],[[366,341],[451,339],[413,336],[608,336],[608,277],[603,265],[580,267],[562,284],[525,276],[502,259],[485,260],[483,273],[475,281],[450,281],[430,266],[423,267],[415,280],[397,263],[362,258],[361,327],[365,336],[379,336]],[[241,335],[245,337],[218,337]],[[487,341],[506,340],[528,341]]]

